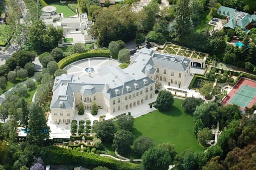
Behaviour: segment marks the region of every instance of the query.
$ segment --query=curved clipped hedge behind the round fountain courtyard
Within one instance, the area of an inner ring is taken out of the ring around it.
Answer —
[[[91,57],[109,57],[109,55],[110,55],[109,50],[92,50],[82,54],[72,54],[70,56],[65,57],[61,61],[59,61],[58,66],[59,66],[59,69],[62,69],[68,64],[71,64],[81,59],[87,59]]]

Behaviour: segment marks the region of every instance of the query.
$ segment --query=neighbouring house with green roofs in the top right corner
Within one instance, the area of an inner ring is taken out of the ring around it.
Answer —
[[[250,15],[249,13],[241,12],[226,6],[219,7],[217,13],[226,16],[227,23],[224,27],[227,28],[235,29],[236,27],[240,27],[245,30],[246,33],[249,33],[249,29],[256,24],[256,13]]]

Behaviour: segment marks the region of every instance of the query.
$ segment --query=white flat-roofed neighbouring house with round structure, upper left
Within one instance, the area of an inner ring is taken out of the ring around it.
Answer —
[[[79,16],[62,17],[62,14],[56,13],[55,6],[45,6],[42,10],[44,12],[40,15],[40,18],[43,22],[46,25],[52,24],[55,28],[63,28],[63,36],[66,39],[71,39],[65,42],[64,38],[63,45],[95,42],[88,33],[93,23],[89,21],[86,13],[82,13]]]

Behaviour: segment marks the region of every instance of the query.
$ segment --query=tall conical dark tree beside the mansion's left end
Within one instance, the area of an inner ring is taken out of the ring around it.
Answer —
[[[49,136],[50,128],[47,126],[41,106],[37,103],[32,103],[29,108],[28,128],[27,140],[29,143],[42,145]]]

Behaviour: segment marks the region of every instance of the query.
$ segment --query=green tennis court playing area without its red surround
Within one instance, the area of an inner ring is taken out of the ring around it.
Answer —
[[[251,103],[256,95],[256,88],[248,85],[243,85],[230,100],[230,103],[237,104],[241,107],[246,107]]]

